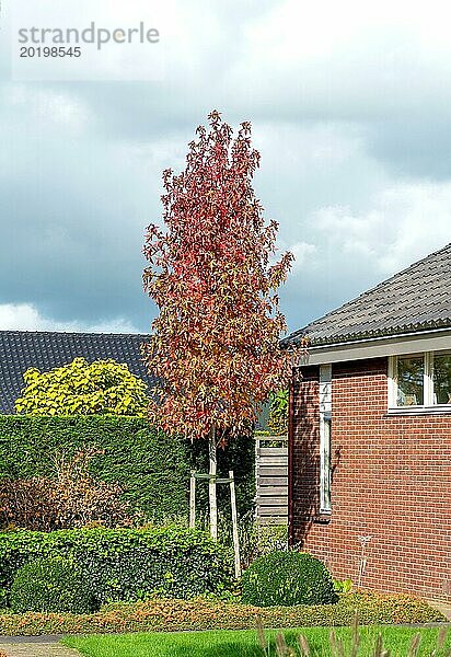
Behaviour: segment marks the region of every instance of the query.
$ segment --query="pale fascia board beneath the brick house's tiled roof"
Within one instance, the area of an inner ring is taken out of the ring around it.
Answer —
[[[346,362],[348,360],[363,360],[366,358],[382,358],[384,356],[401,356],[403,354],[442,351],[448,349],[451,349],[451,330],[449,328],[421,334],[394,335],[391,337],[310,347],[302,365]]]

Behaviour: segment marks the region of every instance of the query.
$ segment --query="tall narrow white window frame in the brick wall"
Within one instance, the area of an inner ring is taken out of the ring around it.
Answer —
[[[320,514],[332,514],[332,365],[320,366]]]

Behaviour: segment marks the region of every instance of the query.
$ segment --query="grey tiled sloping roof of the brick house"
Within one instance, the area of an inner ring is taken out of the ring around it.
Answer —
[[[451,244],[395,274],[337,310],[296,331],[285,345],[308,336],[327,345],[451,327]]]

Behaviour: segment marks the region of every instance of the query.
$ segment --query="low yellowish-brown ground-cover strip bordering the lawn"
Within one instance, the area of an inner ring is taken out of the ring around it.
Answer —
[[[105,632],[173,632],[183,630],[252,630],[265,627],[361,625],[441,622],[443,615],[412,596],[349,593],[336,604],[268,607],[265,609],[205,598],[154,599],[111,604],[94,614],[0,615],[0,634],[96,634]]]

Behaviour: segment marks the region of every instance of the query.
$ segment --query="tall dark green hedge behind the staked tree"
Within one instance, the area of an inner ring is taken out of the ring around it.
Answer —
[[[207,441],[193,446],[165,436],[135,417],[38,417],[0,415],[0,479],[51,475],[55,456],[96,447],[104,454],[91,462],[94,476],[118,482],[124,497],[148,517],[187,515],[189,470],[207,472]],[[240,437],[218,450],[218,470],[233,470],[240,515],[253,506],[255,450],[252,436]],[[221,509],[229,509],[227,486],[218,487]],[[207,485],[198,486],[198,505],[207,507]]]

